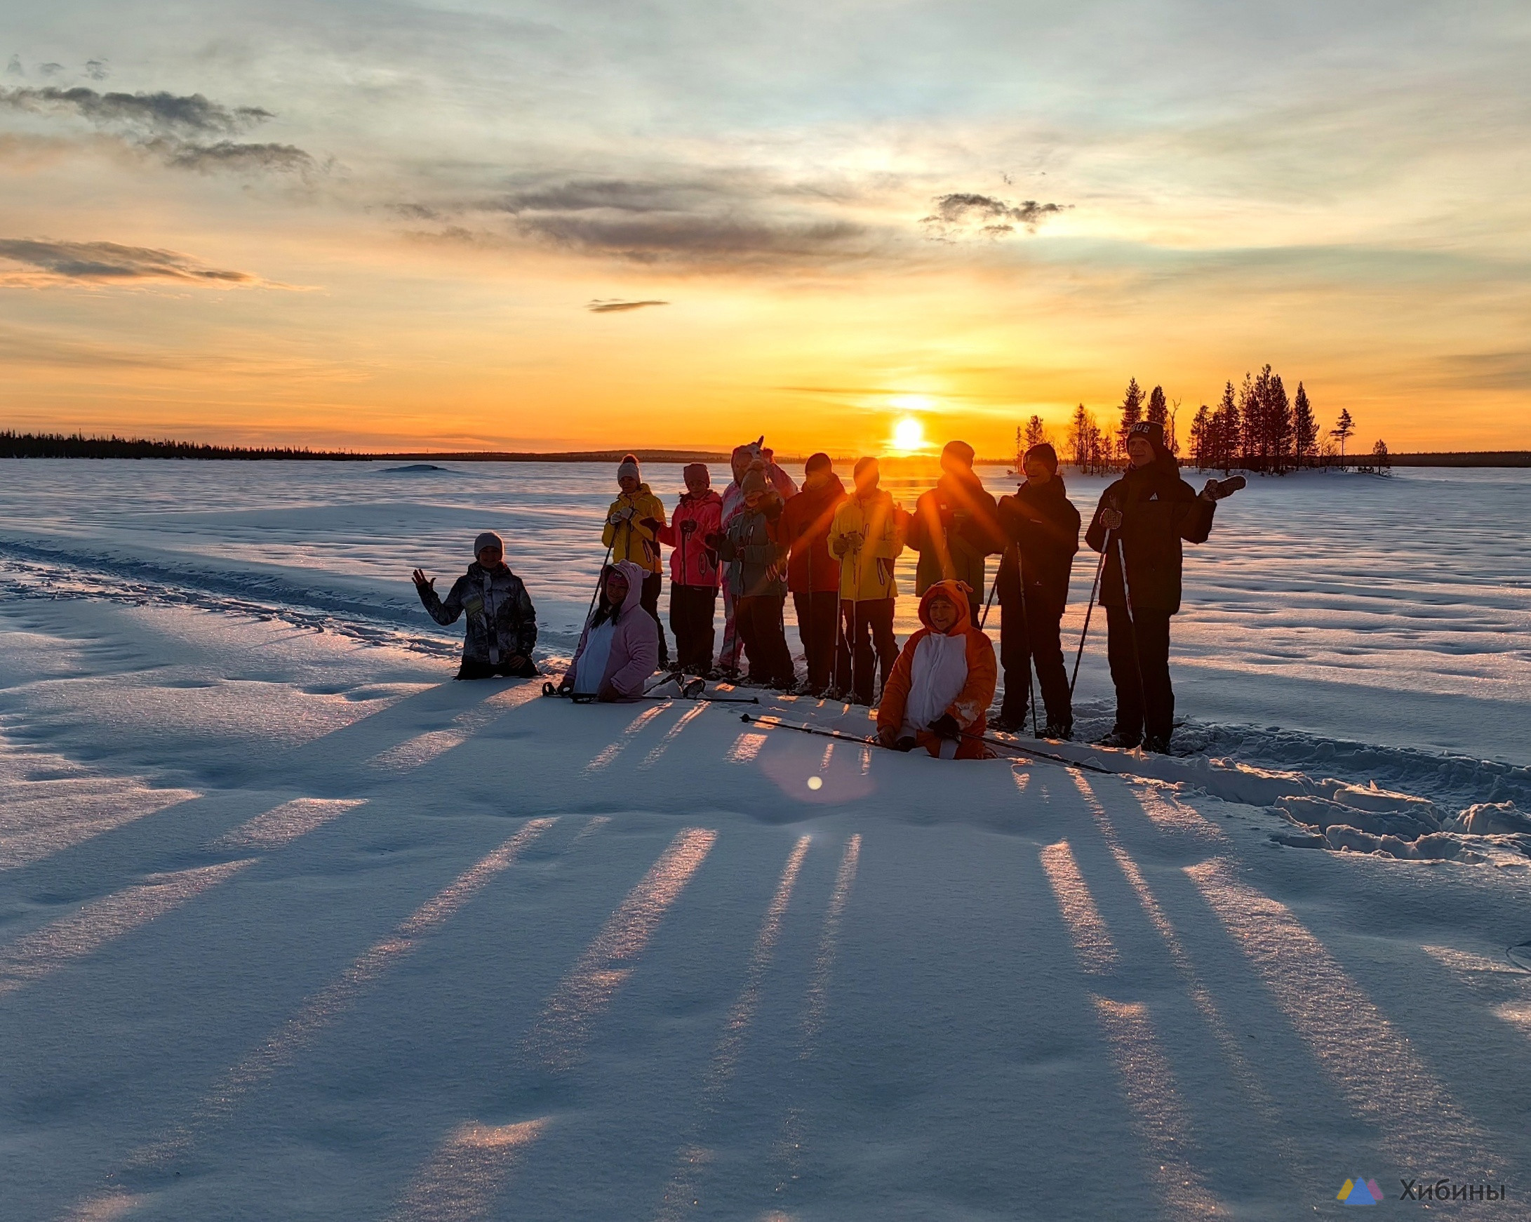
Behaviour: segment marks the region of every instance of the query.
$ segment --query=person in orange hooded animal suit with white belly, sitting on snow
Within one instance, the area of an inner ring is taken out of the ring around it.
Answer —
[[[971,593],[945,580],[920,599],[925,626],[903,643],[877,706],[885,747],[920,746],[942,760],[989,756],[981,735],[994,700],[994,643],[972,623]]]

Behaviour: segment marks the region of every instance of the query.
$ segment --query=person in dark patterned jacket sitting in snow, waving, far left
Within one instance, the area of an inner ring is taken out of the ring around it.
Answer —
[[[531,678],[537,674],[531,648],[537,643],[537,613],[521,577],[505,567],[505,541],[485,530],[473,541],[478,560],[456,579],[442,600],[436,579],[415,570],[415,590],[439,625],[468,616],[458,678]]]

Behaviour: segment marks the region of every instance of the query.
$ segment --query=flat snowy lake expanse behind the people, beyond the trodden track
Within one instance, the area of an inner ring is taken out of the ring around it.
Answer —
[[[433,642],[446,654],[459,636],[429,622],[409,571],[424,567],[446,590],[475,533],[491,528],[508,539],[508,562],[537,603],[544,645],[566,654],[600,564],[614,472],[442,466],[12,461],[0,484],[0,574],[12,593],[250,606]],[[674,507],[680,469],[645,475]],[[1014,490],[1001,469],[981,475],[995,495]],[[713,481],[721,490],[726,470]],[[1067,482],[1089,518],[1107,481]],[[928,481],[885,487],[908,508]],[[1525,470],[1251,479],[1219,505],[1213,537],[1187,550],[1171,654],[1179,715],[1526,763],[1526,522]],[[906,553],[899,570],[900,636],[914,626],[914,560]],[[1066,640],[1078,640],[1093,562],[1089,551],[1075,562]],[[796,646],[795,632],[788,639]],[[1079,686],[1104,711],[1101,622]]]

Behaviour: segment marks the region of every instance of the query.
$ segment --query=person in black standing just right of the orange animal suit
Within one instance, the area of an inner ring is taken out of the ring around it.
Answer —
[[[1000,528],[1010,541],[1000,559],[1000,662],[1004,701],[989,721],[1001,730],[1026,724],[1032,662],[1047,707],[1047,738],[1073,734],[1069,672],[1063,663],[1058,620],[1069,602],[1069,571],[1079,550],[1079,510],[1058,475],[1058,452],[1046,441],[1021,461],[1026,482],[1000,498]]]

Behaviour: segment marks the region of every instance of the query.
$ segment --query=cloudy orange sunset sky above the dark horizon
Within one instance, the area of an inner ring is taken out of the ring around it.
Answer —
[[[1269,363],[1531,447],[1525,3],[0,14],[0,427],[1004,455]]]

